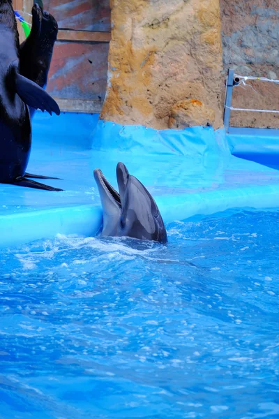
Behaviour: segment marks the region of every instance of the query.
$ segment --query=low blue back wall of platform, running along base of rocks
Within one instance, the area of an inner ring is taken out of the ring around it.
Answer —
[[[48,141],[65,147],[135,154],[176,154],[189,157],[218,157],[228,153],[264,165],[276,165],[279,129],[229,127],[216,131],[195,126],[184,130],[156,130],[140,125],[123,126],[104,122],[98,114],[63,112],[59,117],[36,112],[33,147]]]

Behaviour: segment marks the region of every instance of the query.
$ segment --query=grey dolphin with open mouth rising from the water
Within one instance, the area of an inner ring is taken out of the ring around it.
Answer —
[[[94,170],[94,177],[103,207],[101,237],[133,237],[167,242],[167,232],[155,200],[144,185],[129,174],[123,163],[116,166],[119,193],[100,169]]]

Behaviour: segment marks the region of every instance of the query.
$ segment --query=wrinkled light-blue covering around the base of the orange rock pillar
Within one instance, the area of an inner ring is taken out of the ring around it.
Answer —
[[[194,126],[183,130],[156,130],[101,120],[93,131],[92,149],[116,153],[132,152],[135,156],[173,154],[203,159],[229,152],[224,129],[214,131],[211,127]]]

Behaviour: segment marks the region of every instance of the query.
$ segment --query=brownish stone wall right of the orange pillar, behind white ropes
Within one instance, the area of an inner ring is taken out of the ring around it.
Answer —
[[[220,10],[224,80],[227,68],[279,79],[279,0],[220,0]],[[279,84],[247,83],[234,88],[234,108],[279,110]],[[233,111],[230,124],[279,128],[279,114]]]

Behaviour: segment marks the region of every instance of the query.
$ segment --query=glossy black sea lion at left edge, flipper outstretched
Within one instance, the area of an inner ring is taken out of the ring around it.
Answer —
[[[38,84],[20,74],[19,36],[12,0],[0,1],[0,182],[61,191],[27,179],[31,150],[28,106],[60,114],[59,106]]]

